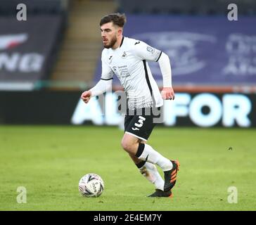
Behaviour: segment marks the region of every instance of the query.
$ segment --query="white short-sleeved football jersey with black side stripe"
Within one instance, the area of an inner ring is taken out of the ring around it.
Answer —
[[[160,107],[163,100],[147,61],[157,62],[161,53],[143,41],[123,37],[119,48],[103,49],[101,79],[120,79],[129,109]]]

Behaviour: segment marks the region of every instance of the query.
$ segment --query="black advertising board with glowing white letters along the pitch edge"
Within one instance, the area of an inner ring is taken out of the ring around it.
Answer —
[[[0,91],[0,124],[94,124],[123,129],[120,94],[108,92],[85,104],[80,91]],[[179,92],[174,101],[164,102],[160,125],[249,128],[256,127],[255,115],[256,94]]]

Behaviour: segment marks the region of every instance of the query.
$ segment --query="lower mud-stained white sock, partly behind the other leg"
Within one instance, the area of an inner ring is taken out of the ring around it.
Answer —
[[[155,185],[155,189],[164,190],[165,181],[160,176],[158,169],[151,162],[146,162],[139,171],[145,178]]]

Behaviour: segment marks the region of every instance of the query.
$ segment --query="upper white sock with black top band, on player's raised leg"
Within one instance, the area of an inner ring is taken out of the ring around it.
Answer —
[[[160,166],[163,172],[172,169],[172,162],[167,158],[163,157],[160,153],[158,153],[146,143],[139,143],[136,157],[140,160],[151,162]]]

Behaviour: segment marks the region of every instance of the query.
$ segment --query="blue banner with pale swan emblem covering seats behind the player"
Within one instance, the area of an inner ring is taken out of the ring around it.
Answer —
[[[175,84],[256,84],[256,18],[127,15],[124,37],[145,41],[167,53]],[[149,63],[162,86],[158,63]],[[98,60],[95,82],[101,77]],[[114,79],[115,84],[119,84]]]

